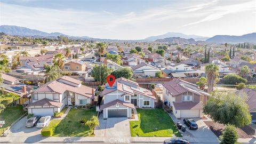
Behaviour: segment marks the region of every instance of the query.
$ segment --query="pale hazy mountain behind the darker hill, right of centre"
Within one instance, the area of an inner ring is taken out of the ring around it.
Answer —
[[[197,36],[197,35],[185,35],[182,33],[166,33],[164,35],[158,35],[158,36],[150,36],[145,38],[147,41],[156,41],[157,39],[164,39],[164,38],[169,38],[169,37],[180,37],[180,38],[193,38],[196,41],[205,41],[209,37],[203,37],[203,36]]]

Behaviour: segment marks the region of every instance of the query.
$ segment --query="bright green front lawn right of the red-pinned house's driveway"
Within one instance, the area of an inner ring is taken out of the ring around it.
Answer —
[[[130,121],[132,137],[181,137],[171,117],[163,109],[137,109],[139,121]]]

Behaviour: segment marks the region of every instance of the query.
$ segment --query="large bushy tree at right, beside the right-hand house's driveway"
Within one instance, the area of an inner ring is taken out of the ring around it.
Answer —
[[[204,114],[210,115],[213,121],[222,124],[233,124],[243,127],[251,123],[246,95],[228,91],[214,91],[203,108]]]

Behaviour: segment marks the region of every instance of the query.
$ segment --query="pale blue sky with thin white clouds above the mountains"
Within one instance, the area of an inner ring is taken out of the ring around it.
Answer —
[[[0,2],[1,25],[95,38],[143,39],[167,32],[201,36],[256,31],[256,1]]]

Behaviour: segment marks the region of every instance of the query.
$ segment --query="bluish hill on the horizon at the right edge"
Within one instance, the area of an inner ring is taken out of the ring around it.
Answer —
[[[216,35],[206,39],[207,43],[256,43],[256,33],[246,34],[242,36]]]

